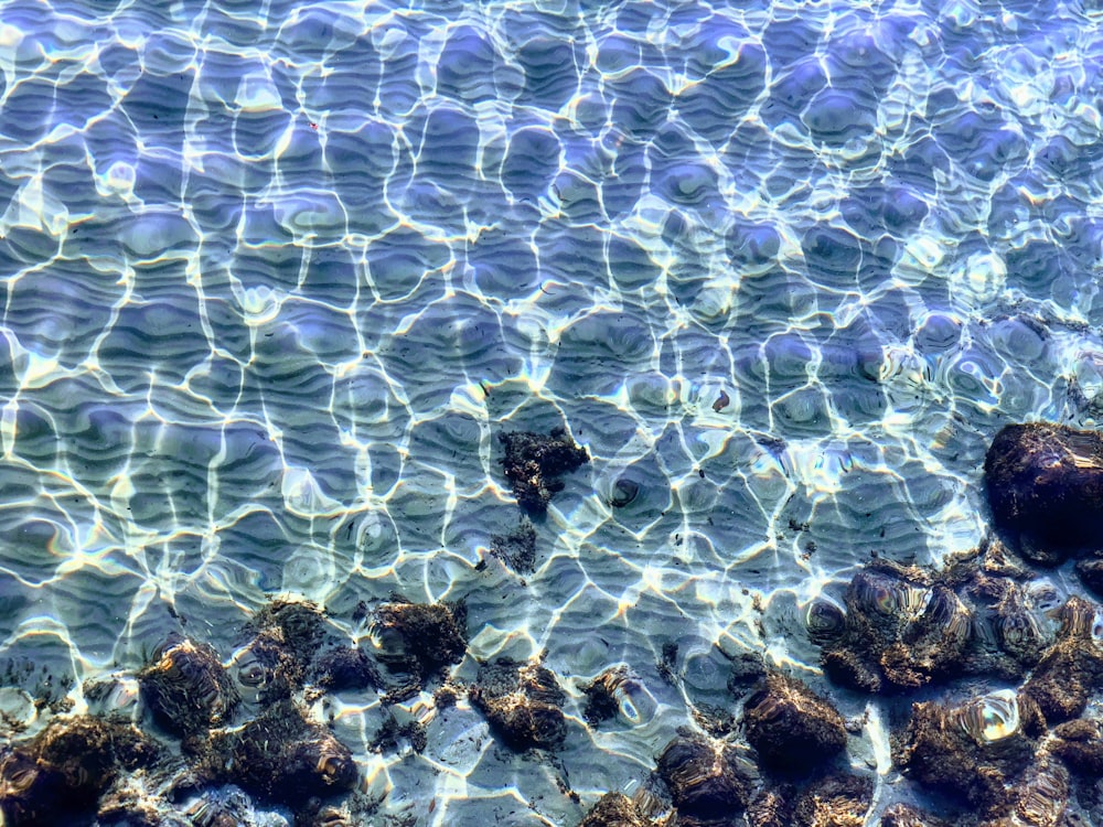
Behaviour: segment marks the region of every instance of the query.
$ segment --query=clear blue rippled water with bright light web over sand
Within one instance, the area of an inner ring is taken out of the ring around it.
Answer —
[[[546,651],[563,766],[465,702],[336,732],[387,812],[572,824],[718,649],[822,686],[813,598],[975,545],[1003,423],[1103,406],[1091,3],[146,6],[0,6],[0,648],[77,708],[181,619],[464,598],[457,676]],[[564,422],[522,580],[496,433]],[[618,663],[652,712],[588,731]]]

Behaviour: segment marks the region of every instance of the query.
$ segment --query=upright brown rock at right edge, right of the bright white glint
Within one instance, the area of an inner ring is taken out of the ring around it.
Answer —
[[[1024,687],[1050,724],[1079,716],[1091,691],[1103,686],[1103,648],[1095,636],[1100,616],[1099,608],[1083,598],[1069,598],[1057,641]]]

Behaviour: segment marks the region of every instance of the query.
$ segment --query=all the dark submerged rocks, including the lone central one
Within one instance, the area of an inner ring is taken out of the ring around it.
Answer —
[[[503,442],[514,493],[534,513],[561,487],[559,474],[588,460],[564,431]],[[657,750],[632,797],[600,797],[581,825],[1057,827],[1103,818],[1103,724],[1089,713],[1103,689],[1103,608],[1054,600],[1039,570],[1074,566],[1090,588],[1103,581],[1103,441],[1061,426],[1011,426],[993,441],[985,471],[995,534],[977,549],[939,569],[875,557],[839,602],[821,599],[807,613],[826,678],[896,710],[892,763],[938,793],[944,813],[875,808],[872,776],[847,760],[863,723],[844,720],[795,675],[743,656],[731,660],[730,709],[696,707],[687,692],[696,726]],[[495,538],[495,554],[518,567],[525,561],[511,555],[527,554],[533,539],[523,526],[513,538],[523,547]],[[371,653],[341,640],[317,606],[281,600],[254,616],[228,668],[212,646],[170,636],[130,677],[149,732],[107,715],[57,715],[0,749],[4,823],[246,824],[249,810],[235,797],[243,791],[302,824],[350,823],[332,802],[356,783],[352,754],[308,711],[309,699],[341,689],[375,689],[389,705],[436,684],[438,707],[465,692],[507,748],[546,758],[567,744],[568,694],[540,659],[480,663],[469,686],[454,681],[452,667],[467,657],[462,602],[396,595],[357,614]],[[675,685],[677,657],[676,644],[663,646],[660,673]],[[651,720],[654,699],[628,664],[578,688],[590,728]],[[93,689],[89,699],[111,697]],[[424,724],[390,715],[374,745],[403,739],[419,750]],[[154,775],[164,799],[186,807],[159,810],[142,797],[135,777]]]

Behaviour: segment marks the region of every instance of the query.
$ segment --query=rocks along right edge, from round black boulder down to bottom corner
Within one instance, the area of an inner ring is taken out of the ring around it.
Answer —
[[[845,611],[810,612],[810,635],[845,686],[940,688],[941,700],[912,705],[893,758],[955,802],[959,820],[1057,825],[1070,801],[1094,797],[1089,780],[1103,770],[1099,723],[1081,717],[1103,689],[1103,610],[1079,595],[1048,610],[1052,590],[1036,567],[1077,560],[1090,588],[1103,571],[1103,439],[1008,426],[988,449],[985,487],[994,537],[938,571],[871,561]],[[1003,688],[963,697],[962,678]],[[902,808],[882,817],[935,823]]]

